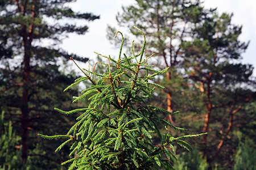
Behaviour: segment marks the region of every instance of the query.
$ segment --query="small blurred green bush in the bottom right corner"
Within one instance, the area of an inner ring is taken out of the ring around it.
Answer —
[[[255,142],[251,139],[245,139],[245,142],[241,142],[234,164],[234,170],[246,169],[253,170],[256,169],[256,146]]]

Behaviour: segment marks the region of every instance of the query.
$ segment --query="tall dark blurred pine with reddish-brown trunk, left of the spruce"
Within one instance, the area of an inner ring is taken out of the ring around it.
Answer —
[[[53,107],[69,108],[65,101],[77,95],[76,90],[63,93],[76,79],[74,71],[65,71],[65,64],[71,56],[81,62],[88,58],[68,54],[59,44],[68,33],[84,34],[88,30],[88,26],[70,24],[68,19],[100,18],[74,12],[68,7],[69,2],[75,1],[0,3],[0,109],[21,137],[20,169],[54,169],[61,162],[59,156],[49,154],[58,142],[56,146],[49,145],[36,134],[66,133],[65,125],[72,124],[72,120],[53,110]]]

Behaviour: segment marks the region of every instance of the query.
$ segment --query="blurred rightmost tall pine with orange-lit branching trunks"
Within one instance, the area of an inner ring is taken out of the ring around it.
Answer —
[[[208,11],[204,22],[195,27],[194,40],[183,44],[187,76],[199,96],[196,103],[205,107],[201,131],[212,131],[209,138],[203,137],[204,156],[210,166],[218,159],[218,164],[225,160],[222,167],[229,168],[230,155],[234,155],[230,145],[237,143],[232,129],[243,120],[243,112],[250,111],[247,108],[256,97],[254,68],[240,61],[249,43],[238,39],[242,27],[231,23],[232,16],[219,15],[216,9]],[[227,151],[230,155],[226,155]]]

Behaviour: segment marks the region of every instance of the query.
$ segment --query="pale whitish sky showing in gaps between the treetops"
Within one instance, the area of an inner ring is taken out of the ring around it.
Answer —
[[[100,19],[93,22],[76,22],[77,25],[86,24],[89,27],[85,35],[76,35],[72,33],[69,37],[63,40],[61,48],[67,50],[69,53],[75,53],[79,56],[84,56],[92,60],[96,58],[94,52],[104,54],[106,56],[118,56],[118,49],[110,44],[106,38],[107,25],[118,28],[115,20],[117,12],[122,12],[122,6],[131,5],[134,0],[77,0],[71,3],[71,7],[76,12],[92,12],[94,15],[100,15]],[[256,68],[256,1],[255,0],[204,0],[205,8],[217,7],[217,11],[233,12],[232,23],[242,25],[242,34],[239,37],[241,41],[250,41],[249,47],[245,53],[242,53],[242,63],[250,63]],[[256,76],[256,69],[254,69],[254,76]]]

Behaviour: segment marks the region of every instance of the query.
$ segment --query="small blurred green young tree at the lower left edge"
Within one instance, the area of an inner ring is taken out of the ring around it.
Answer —
[[[4,112],[0,117],[0,169],[18,169],[20,137],[15,134],[12,123],[5,123]]]

